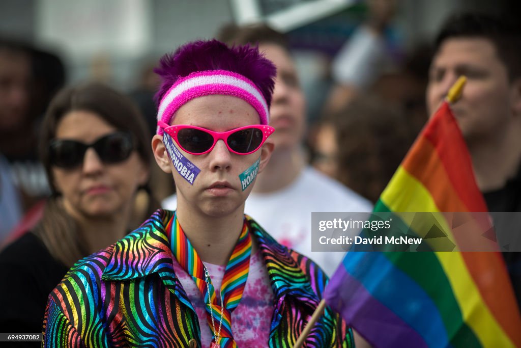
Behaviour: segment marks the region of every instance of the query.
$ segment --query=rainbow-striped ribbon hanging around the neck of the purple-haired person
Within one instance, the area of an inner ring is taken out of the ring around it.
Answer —
[[[244,292],[246,279],[250,269],[250,255],[252,250],[252,238],[249,233],[246,221],[242,226],[242,232],[239,236],[237,244],[233,249],[233,253],[226,265],[224,277],[222,278],[221,296],[224,303],[224,308],[217,302],[212,280],[205,275],[205,266],[197,251],[188,240],[187,236],[181,229],[181,225],[177,220],[177,213],[169,221],[166,226],[167,236],[170,237],[170,248],[172,254],[176,257],[179,265],[192,276],[197,289],[204,297],[206,305],[206,319],[210,330],[214,330],[214,339],[210,346],[217,347],[237,347],[237,343],[233,340],[231,332],[231,312],[237,308]],[[207,282],[208,281],[208,282]],[[208,301],[208,298],[210,301]],[[211,309],[210,305],[211,303]],[[213,311],[213,314],[210,312]],[[213,325],[212,316],[221,318],[222,310],[222,331],[221,334],[216,334]],[[217,342],[215,342],[217,340]]]

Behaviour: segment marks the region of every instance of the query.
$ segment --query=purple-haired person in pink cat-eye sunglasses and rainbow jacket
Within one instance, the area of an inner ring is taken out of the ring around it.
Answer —
[[[156,72],[152,149],[177,211],[158,210],[69,271],[49,295],[44,345],[293,346],[327,277],[244,215],[274,147],[275,66],[212,40],[165,55]],[[349,347],[352,333],[326,308],[306,342]]]

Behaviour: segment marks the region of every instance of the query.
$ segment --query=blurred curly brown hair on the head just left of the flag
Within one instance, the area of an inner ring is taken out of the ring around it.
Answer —
[[[335,178],[376,202],[412,143],[406,122],[398,107],[365,94],[325,114],[320,124],[336,133]]]

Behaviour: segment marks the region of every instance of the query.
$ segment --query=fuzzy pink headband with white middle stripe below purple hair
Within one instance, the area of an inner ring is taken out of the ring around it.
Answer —
[[[210,94],[232,95],[243,99],[257,111],[261,124],[268,124],[268,104],[261,91],[250,79],[228,70],[197,71],[177,80],[159,103],[157,121],[170,124],[182,105]],[[157,134],[162,135],[163,129],[157,127]]]

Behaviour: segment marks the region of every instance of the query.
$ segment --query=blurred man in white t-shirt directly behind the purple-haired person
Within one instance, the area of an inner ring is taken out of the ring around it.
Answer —
[[[264,26],[252,26],[227,27],[219,36],[230,44],[258,43],[261,52],[277,67],[270,108],[275,150],[264,172],[257,176],[244,211],[251,212],[279,243],[309,256],[331,275],[344,253],[311,251],[311,213],[366,212],[371,210],[371,203],[307,165],[301,148],[306,103],[284,35]],[[175,209],[176,198],[167,198],[163,206]]]

